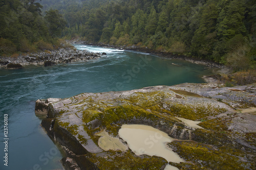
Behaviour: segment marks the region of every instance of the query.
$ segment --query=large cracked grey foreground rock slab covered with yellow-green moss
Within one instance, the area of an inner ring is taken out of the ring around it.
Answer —
[[[256,115],[236,109],[256,107],[255,89],[256,83],[232,89],[184,83],[38,100],[35,110],[47,114],[42,127],[70,151],[63,164],[74,161],[81,169],[164,169],[168,162],[161,157],[100,147],[101,132],[109,135],[108,145],[119,139],[127,146],[118,135],[124,124],[152,126],[174,138],[167,146],[184,162],[169,164],[180,169],[253,169]],[[65,167],[74,169],[69,164]]]

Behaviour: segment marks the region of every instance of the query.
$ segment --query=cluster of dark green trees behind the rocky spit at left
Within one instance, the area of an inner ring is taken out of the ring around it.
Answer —
[[[66,27],[57,10],[45,11],[36,0],[0,1],[0,55],[53,50]]]

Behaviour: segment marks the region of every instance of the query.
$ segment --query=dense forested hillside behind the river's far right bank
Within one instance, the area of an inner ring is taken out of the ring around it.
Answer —
[[[48,7],[50,2],[42,1]],[[51,5],[65,16],[68,39],[135,44],[223,63],[236,71],[255,66],[254,0],[61,2]]]

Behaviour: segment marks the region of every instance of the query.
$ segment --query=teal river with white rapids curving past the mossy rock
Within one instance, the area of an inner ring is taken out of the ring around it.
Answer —
[[[81,44],[75,47],[106,55],[88,62],[50,67],[0,68],[0,169],[62,169],[61,152],[42,130],[41,120],[34,114],[37,99],[185,82],[203,83],[201,77],[210,74],[205,66],[182,60]],[[6,127],[4,115],[8,115]],[[4,128],[8,128],[6,137]],[[8,151],[4,151],[6,140]],[[4,165],[6,153],[8,166]]]

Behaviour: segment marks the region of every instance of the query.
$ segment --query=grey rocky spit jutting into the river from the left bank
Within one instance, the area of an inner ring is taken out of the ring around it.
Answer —
[[[59,48],[53,51],[44,51],[38,53],[31,53],[26,55],[19,55],[17,57],[1,57],[0,67],[7,67],[8,64],[20,65],[54,65],[56,63],[70,63],[77,61],[88,61],[101,57],[103,54],[92,53],[86,50],[74,50],[73,48]],[[12,67],[16,68],[16,67]]]

